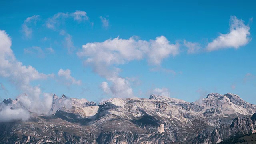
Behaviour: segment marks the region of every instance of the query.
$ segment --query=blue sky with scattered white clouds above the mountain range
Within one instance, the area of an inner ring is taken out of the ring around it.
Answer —
[[[21,73],[16,76],[1,67],[10,73],[0,73],[1,99],[38,88],[39,95],[96,102],[150,94],[192,102],[210,92],[231,92],[256,104],[252,1],[0,5],[0,30],[11,39],[16,62],[41,74],[34,78],[14,66]]]

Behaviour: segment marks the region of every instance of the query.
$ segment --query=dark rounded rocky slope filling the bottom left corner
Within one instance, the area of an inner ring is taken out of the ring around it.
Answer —
[[[93,134],[56,116],[37,117],[30,122],[5,122],[0,124],[1,144],[92,144]]]

